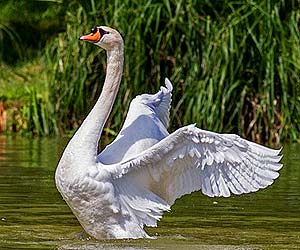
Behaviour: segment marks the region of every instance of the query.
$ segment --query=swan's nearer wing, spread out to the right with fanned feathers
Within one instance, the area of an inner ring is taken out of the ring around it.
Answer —
[[[114,179],[139,178],[171,205],[200,189],[210,197],[228,197],[265,188],[279,176],[279,153],[234,134],[190,125],[121,163],[112,174]]]

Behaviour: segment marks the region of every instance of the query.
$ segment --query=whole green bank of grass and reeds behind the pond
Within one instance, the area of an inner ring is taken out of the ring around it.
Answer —
[[[105,53],[78,41],[94,25],[116,28],[125,41],[108,139],[130,100],[169,77],[171,131],[197,123],[261,143],[299,141],[299,0],[1,1],[3,133],[78,128],[105,77]]]

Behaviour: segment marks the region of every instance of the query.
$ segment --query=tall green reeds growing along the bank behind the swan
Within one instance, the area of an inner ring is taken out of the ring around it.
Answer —
[[[171,130],[196,122],[260,142],[300,137],[300,1],[71,1],[66,31],[46,46],[54,131],[79,126],[101,90],[105,55],[78,42],[95,24],[118,29],[125,69],[107,130],[130,100],[174,84]],[[51,127],[51,126],[50,126]]]

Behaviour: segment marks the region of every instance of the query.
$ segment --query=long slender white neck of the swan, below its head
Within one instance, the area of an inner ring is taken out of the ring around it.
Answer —
[[[81,159],[96,159],[98,142],[119,90],[123,58],[123,44],[107,51],[106,77],[101,95],[69,142],[68,147],[75,151],[77,156],[80,155]]]

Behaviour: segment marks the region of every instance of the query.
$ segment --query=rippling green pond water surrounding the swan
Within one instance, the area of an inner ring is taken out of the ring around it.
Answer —
[[[185,196],[165,213],[154,240],[95,241],[54,185],[64,139],[0,137],[0,249],[300,249],[300,145],[268,189],[215,199]]]

